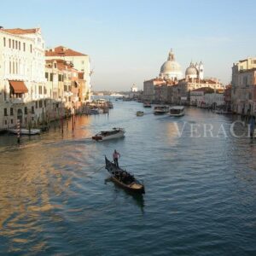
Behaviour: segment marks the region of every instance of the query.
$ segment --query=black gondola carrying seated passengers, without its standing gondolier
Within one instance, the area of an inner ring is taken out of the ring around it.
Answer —
[[[113,183],[118,184],[123,189],[137,193],[145,194],[145,188],[143,183],[139,182],[133,175],[125,170],[118,168],[105,156],[106,166],[105,168],[111,175]]]

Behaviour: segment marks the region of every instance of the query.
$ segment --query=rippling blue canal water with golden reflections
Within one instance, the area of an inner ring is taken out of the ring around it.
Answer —
[[[77,117],[74,131],[67,121],[63,135],[55,123],[20,145],[0,137],[0,254],[255,255],[256,139],[240,136],[246,127],[235,137],[232,116],[187,108],[176,119],[113,103]],[[91,141],[112,127],[125,138]],[[114,149],[145,195],[108,180]]]

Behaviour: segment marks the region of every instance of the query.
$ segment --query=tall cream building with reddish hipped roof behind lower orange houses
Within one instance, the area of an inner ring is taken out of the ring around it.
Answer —
[[[90,101],[90,57],[64,46],[58,46],[45,51],[46,60],[61,59],[73,66],[79,73],[84,73],[84,88],[81,102]]]

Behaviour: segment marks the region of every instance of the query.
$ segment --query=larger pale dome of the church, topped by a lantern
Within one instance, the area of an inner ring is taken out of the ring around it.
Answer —
[[[167,61],[160,68],[160,79],[165,80],[178,80],[182,79],[183,73],[180,65],[175,61],[174,53],[169,52]]]

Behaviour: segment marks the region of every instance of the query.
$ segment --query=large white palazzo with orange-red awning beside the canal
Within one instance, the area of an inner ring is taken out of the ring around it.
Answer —
[[[40,28],[0,29],[0,129],[43,118],[44,38]]]

